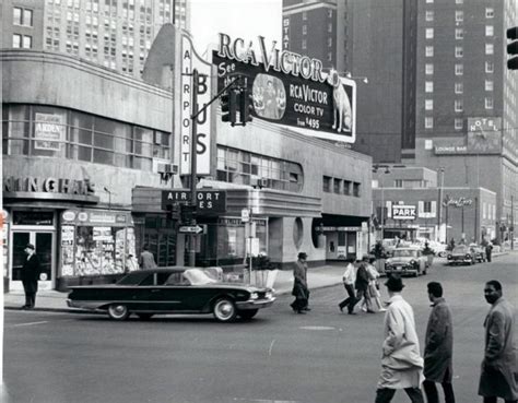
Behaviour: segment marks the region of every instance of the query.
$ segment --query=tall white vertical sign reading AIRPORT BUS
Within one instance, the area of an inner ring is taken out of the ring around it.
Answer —
[[[212,66],[199,57],[192,46],[191,38],[185,33],[181,36],[181,91],[180,91],[180,175],[190,174],[190,142],[192,139],[192,70],[200,73],[198,83],[198,109],[211,100]],[[207,108],[197,119],[197,161],[198,175],[211,174],[211,109]]]

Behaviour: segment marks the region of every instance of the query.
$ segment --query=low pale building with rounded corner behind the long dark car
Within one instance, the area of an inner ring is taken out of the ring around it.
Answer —
[[[184,264],[178,216],[160,202],[184,189],[178,176],[160,175],[180,158],[172,93],[57,52],[2,50],[0,61],[9,287],[21,288],[27,242],[48,289],[113,282],[136,269],[144,242],[158,265]],[[280,268],[298,251],[311,264],[332,259],[331,249],[366,251],[370,157],[259,119],[231,128],[215,107],[212,116],[211,176],[199,188],[224,191],[226,211],[198,217],[207,234],[197,237],[197,264],[244,262],[243,209],[252,211],[258,250]],[[323,226],[335,228],[333,240]]]

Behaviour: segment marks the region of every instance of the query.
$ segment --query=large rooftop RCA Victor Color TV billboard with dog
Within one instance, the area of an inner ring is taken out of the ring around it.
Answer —
[[[220,34],[212,54],[217,91],[235,76],[247,79],[256,118],[282,125],[306,135],[354,143],[356,140],[356,84],[325,71],[318,59],[275,48],[262,36],[245,43]]]

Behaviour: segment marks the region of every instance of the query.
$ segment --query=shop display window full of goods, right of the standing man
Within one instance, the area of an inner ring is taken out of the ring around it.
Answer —
[[[62,276],[121,274],[138,269],[129,213],[68,210],[61,222]]]

